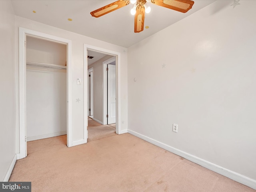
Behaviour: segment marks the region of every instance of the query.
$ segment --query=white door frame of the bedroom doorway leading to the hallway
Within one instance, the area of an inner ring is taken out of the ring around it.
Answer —
[[[121,124],[121,70],[120,70],[120,64],[121,64],[121,53],[96,47],[96,46],[91,46],[88,44],[84,44],[84,77],[88,76],[88,61],[87,61],[87,50],[91,51],[96,51],[96,52],[102,52],[104,54],[112,55],[116,58],[116,134],[119,134],[121,132],[120,130],[120,124]],[[87,81],[87,78],[84,78],[84,80]],[[88,91],[88,82],[84,82],[84,93],[87,93]],[[104,93],[104,92],[103,92]],[[84,100],[87,101],[87,95],[84,94]],[[104,102],[104,101],[103,101]],[[87,128],[88,126],[88,102],[84,102],[84,127]],[[104,106],[103,106],[104,108]],[[104,120],[104,118],[103,118]],[[86,133],[86,131],[84,131]],[[84,138],[87,138],[84,136]]]

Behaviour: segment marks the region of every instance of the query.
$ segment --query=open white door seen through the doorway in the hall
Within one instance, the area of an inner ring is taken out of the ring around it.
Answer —
[[[116,123],[116,65],[108,64],[108,124]]]

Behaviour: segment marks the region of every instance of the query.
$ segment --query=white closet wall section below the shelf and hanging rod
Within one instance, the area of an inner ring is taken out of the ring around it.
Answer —
[[[27,67],[27,140],[66,134],[66,70]]]

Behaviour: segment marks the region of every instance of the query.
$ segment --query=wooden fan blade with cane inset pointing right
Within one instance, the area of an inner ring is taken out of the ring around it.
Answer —
[[[153,4],[186,13],[194,5],[191,0],[151,0]]]

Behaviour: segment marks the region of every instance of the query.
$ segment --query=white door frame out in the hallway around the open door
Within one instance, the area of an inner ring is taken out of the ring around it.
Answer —
[[[107,81],[107,71],[106,68],[108,66],[108,64],[112,63],[113,61],[116,61],[116,56],[113,56],[112,58],[109,58],[106,61],[102,62],[102,66],[103,66],[103,117],[102,117],[102,123],[103,125],[106,125],[108,122],[108,118],[107,118],[107,106],[108,106],[108,81]]]

